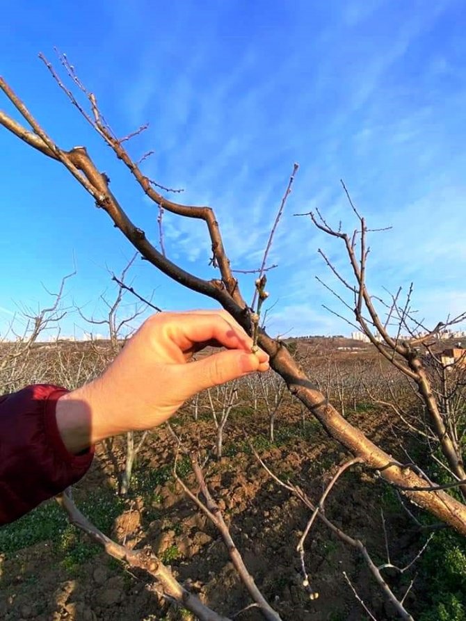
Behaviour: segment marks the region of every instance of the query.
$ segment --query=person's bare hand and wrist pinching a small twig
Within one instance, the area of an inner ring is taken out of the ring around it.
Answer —
[[[189,362],[208,345],[226,350]],[[268,355],[251,353],[251,346],[225,311],[150,317],[102,376],[58,400],[63,441],[77,453],[111,435],[160,425],[202,389],[266,371]]]

